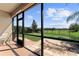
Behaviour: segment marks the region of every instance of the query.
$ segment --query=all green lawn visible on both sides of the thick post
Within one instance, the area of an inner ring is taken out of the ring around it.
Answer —
[[[29,34],[41,35],[40,33],[29,33]],[[24,36],[25,38],[28,38],[33,41],[38,41],[41,39],[41,37],[35,37],[29,35]],[[44,36],[79,40],[79,32],[69,32],[69,30],[44,30]]]

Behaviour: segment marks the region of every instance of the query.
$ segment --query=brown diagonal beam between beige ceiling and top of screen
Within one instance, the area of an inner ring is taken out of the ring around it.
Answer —
[[[13,10],[10,15],[13,17],[15,15],[17,15],[18,13],[29,9],[30,7],[32,7],[33,5],[35,5],[35,3],[21,3],[21,5],[19,7],[17,7],[15,10]]]

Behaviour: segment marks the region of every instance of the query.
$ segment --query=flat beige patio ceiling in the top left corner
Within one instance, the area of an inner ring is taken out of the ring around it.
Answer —
[[[11,13],[20,3],[0,3],[0,10]]]

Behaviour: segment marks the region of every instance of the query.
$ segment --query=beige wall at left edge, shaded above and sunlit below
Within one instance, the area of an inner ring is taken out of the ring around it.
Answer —
[[[0,42],[12,40],[12,19],[6,12],[0,11]],[[2,34],[1,34],[2,33]]]

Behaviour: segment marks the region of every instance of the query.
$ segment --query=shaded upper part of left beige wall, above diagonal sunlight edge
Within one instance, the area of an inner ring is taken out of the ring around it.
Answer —
[[[11,23],[11,17],[8,13],[0,11],[0,33]]]

